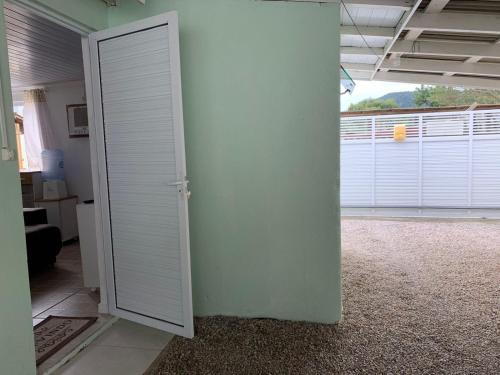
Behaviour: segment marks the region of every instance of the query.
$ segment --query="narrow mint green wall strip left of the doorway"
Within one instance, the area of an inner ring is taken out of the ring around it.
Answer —
[[[14,124],[6,54],[3,0],[0,0],[0,81],[7,123]],[[1,115],[1,114],[0,114]],[[14,126],[8,129],[16,145]],[[17,161],[0,160],[0,374],[34,374],[35,352],[21,182]]]

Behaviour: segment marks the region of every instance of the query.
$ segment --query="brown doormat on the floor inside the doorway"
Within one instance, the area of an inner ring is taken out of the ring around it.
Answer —
[[[89,328],[96,317],[49,316],[33,327],[35,334],[36,365],[39,366],[51,355],[64,347],[80,333]]]

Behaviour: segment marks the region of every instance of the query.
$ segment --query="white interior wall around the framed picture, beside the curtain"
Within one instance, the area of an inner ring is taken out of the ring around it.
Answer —
[[[66,105],[85,103],[84,83],[50,85],[47,87],[46,97],[58,147],[64,151],[64,173],[68,192],[78,195],[80,201],[93,199],[89,138],[69,137],[66,114]]]

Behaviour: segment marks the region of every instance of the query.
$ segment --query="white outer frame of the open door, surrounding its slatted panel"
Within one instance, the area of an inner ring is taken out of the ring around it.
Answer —
[[[174,134],[176,142],[175,157],[177,168],[182,171],[184,179],[186,176],[186,156],[184,140],[184,119],[182,105],[181,88],[181,67],[179,48],[179,23],[176,11],[159,14],[153,17],[130,22],[124,25],[108,28],[90,34],[82,38],[82,51],[85,72],[85,90],[87,95],[87,110],[92,117],[89,121],[89,132],[91,140],[92,154],[92,178],[94,184],[94,201],[96,208],[96,234],[98,237],[98,260],[99,278],[101,286],[101,304],[99,312],[110,313],[125,319],[137,321],[139,323],[155,327],[158,329],[168,329],[169,332],[185,337],[194,336],[193,326],[193,305],[191,286],[191,259],[189,244],[189,219],[187,208],[187,185],[183,186],[183,194],[179,198],[179,240],[181,248],[181,285],[182,285],[182,306],[184,326],[179,326],[169,322],[160,322],[151,317],[141,316],[134,312],[128,312],[116,306],[116,295],[114,290],[114,262],[112,259],[111,240],[111,220],[108,194],[107,162],[104,135],[104,121],[102,113],[101,98],[101,73],[98,62],[98,41],[116,36],[116,34],[129,34],[132,32],[147,30],[162,24],[168,24],[169,28],[169,50],[172,86],[172,108]]]

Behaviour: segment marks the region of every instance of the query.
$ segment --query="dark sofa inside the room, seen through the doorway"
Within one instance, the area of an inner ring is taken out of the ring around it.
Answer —
[[[26,249],[30,271],[52,266],[61,251],[61,231],[47,223],[45,208],[24,208]]]

